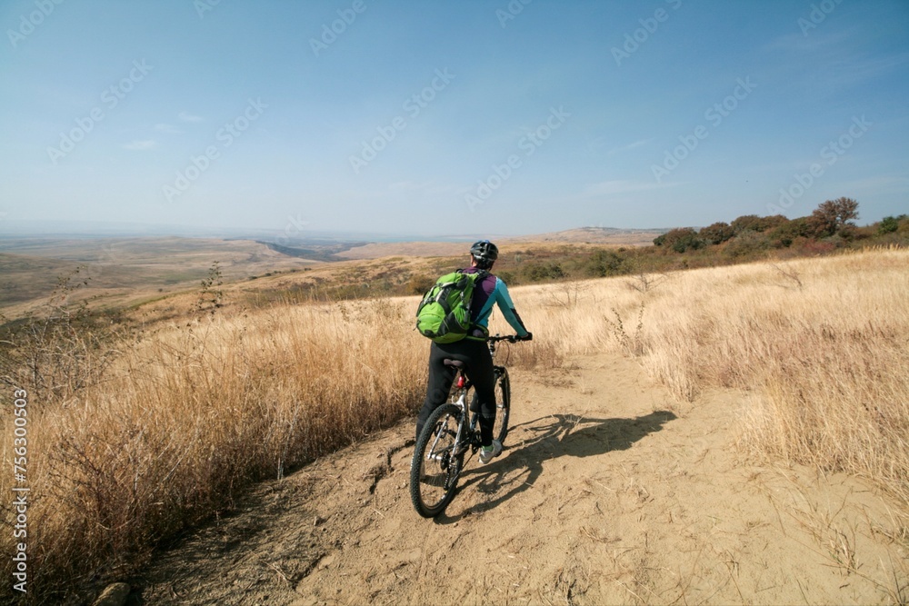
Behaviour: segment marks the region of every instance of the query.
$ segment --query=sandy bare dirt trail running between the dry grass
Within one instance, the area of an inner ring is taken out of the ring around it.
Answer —
[[[513,390],[506,450],[469,462],[435,521],[410,503],[405,422],[262,484],[155,561],[135,603],[906,600],[884,500],[748,462],[734,447],[746,394],[670,412],[636,363],[606,355],[514,372]]]

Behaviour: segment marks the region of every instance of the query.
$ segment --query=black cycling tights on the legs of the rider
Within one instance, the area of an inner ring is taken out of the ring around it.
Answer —
[[[456,371],[453,366],[445,366],[445,359],[464,363],[464,371],[467,378],[474,383],[477,401],[480,404],[480,441],[484,446],[490,445],[493,443],[495,423],[493,357],[489,354],[485,342],[468,339],[456,343],[433,343],[429,352],[429,385],[423,408],[416,418],[416,437],[420,437],[426,419],[445,403],[445,398],[451,390]]]

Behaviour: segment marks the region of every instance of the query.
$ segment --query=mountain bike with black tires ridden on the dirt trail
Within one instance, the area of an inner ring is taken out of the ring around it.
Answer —
[[[489,337],[486,342],[495,361],[495,345],[501,341],[515,343],[514,335]],[[448,402],[429,416],[416,440],[414,458],[410,465],[410,497],[416,511],[425,518],[434,518],[454,499],[458,478],[464,471],[464,456],[480,449],[479,406],[473,383],[464,374],[464,363],[445,360],[446,366],[456,369]],[[508,370],[493,363],[495,377],[495,436],[504,445],[508,435],[508,415],[511,410],[511,385]],[[467,402],[470,402],[468,405]]]

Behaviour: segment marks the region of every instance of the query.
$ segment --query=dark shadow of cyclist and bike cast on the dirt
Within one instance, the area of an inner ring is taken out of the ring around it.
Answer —
[[[465,515],[493,509],[534,485],[543,472],[543,462],[562,456],[589,457],[606,452],[624,451],[644,438],[659,432],[676,416],[655,411],[634,419],[594,419],[576,414],[552,414],[514,425],[505,439],[508,456],[485,466],[471,461],[461,476],[458,492],[474,490],[494,498],[449,516],[442,512],[435,522],[457,522]],[[458,500],[455,498],[454,502]],[[451,507],[451,505],[449,505]]]

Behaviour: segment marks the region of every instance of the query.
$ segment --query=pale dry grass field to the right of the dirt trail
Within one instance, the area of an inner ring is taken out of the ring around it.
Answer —
[[[909,253],[515,290],[534,338],[558,353],[638,356],[682,402],[754,390],[751,448],[867,477],[909,513]]]

